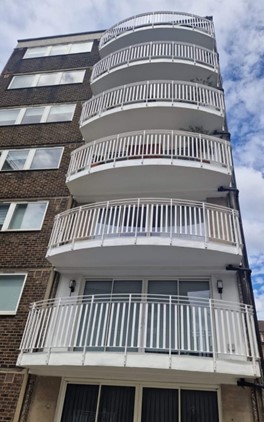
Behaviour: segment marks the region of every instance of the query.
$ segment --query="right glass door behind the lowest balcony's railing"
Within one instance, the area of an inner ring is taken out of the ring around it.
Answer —
[[[208,281],[148,281],[146,351],[208,354]]]

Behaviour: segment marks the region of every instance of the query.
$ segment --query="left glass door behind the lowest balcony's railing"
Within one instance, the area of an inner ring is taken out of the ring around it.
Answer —
[[[84,295],[95,295],[90,304],[90,324],[87,317],[81,324],[87,326],[90,350],[121,351],[127,345],[130,351],[137,350],[135,324],[140,318],[141,291],[141,280],[86,281]]]

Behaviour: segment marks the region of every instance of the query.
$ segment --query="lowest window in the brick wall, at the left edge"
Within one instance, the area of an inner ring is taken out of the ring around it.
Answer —
[[[0,315],[16,314],[26,274],[0,274]]]

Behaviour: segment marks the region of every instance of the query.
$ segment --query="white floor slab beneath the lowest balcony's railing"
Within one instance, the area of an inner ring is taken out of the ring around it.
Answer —
[[[124,377],[133,381],[233,384],[238,378],[259,376],[258,363],[239,359],[150,353],[45,352],[24,353],[19,366],[31,373],[78,377]]]

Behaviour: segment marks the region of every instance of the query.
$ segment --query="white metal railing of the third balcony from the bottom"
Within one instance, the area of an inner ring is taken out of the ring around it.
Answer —
[[[71,153],[67,178],[94,166],[129,159],[167,158],[209,163],[212,168],[232,169],[231,145],[208,135],[169,130],[122,133],[85,144]]]

